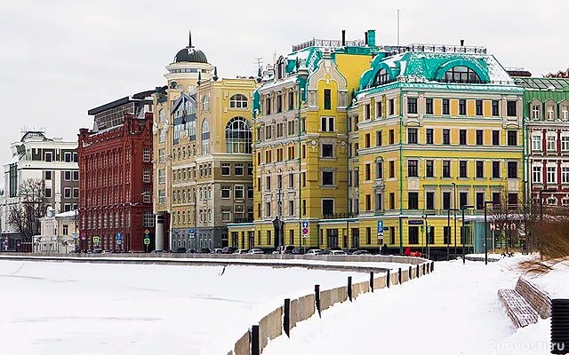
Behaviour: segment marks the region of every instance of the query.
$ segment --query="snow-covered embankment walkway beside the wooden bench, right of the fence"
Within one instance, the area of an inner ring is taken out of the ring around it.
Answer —
[[[516,264],[530,256],[485,265],[460,260],[402,286],[335,305],[277,338],[264,355],[303,354],[549,354],[549,319],[515,332],[497,296],[514,288]],[[562,266],[559,266],[560,268]],[[566,283],[569,269],[543,276],[549,293]],[[536,280],[537,281],[537,280]],[[569,287],[556,296],[569,298]]]

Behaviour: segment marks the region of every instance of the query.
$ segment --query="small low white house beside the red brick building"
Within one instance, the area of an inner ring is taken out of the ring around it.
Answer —
[[[52,212],[52,210],[50,210]],[[34,236],[35,253],[56,252],[68,253],[75,250],[79,228],[77,227],[77,210],[53,214],[40,218],[41,234]],[[51,216],[50,216],[51,215]],[[78,242],[78,241],[77,241]]]

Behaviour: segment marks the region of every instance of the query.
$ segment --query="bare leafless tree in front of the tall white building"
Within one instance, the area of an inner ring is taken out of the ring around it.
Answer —
[[[39,218],[45,216],[47,209],[44,191],[44,180],[23,180],[18,190],[18,203],[8,211],[8,223],[20,233],[22,241],[32,241],[32,237],[40,233]]]

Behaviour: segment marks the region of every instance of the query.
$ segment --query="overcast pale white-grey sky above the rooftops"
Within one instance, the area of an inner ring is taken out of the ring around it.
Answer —
[[[76,139],[88,109],[164,84],[194,45],[222,77],[254,75],[312,37],[485,45],[504,67],[544,75],[569,67],[567,0],[0,0],[0,162],[24,127]]]

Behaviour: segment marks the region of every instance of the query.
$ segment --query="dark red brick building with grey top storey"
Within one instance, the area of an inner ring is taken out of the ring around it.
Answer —
[[[82,249],[144,251],[146,231],[148,250],[154,247],[153,92],[143,91],[92,108],[88,111],[94,116],[92,130],[79,130]]]

